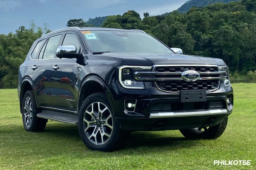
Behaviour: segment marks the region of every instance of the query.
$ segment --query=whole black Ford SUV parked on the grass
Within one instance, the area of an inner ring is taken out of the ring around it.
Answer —
[[[36,40],[19,68],[27,131],[78,124],[93,150],[118,149],[131,131],[179,129],[216,139],[233,109],[222,59],[182,55],[141,30],[69,27]]]

